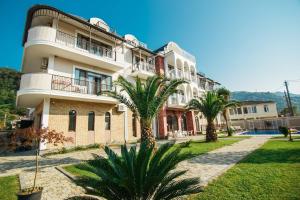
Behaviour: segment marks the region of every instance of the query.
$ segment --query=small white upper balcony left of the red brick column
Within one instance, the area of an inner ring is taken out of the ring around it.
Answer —
[[[146,62],[136,62],[132,67],[132,76],[138,76],[142,79],[147,79],[155,74],[155,66]]]

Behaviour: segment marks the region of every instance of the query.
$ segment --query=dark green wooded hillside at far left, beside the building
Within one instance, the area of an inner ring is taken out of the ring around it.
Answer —
[[[25,114],[25,109],[16,108],[16,94],[20,86],[21,73],[10,68],[0,67],[0,129],[11,120]]]

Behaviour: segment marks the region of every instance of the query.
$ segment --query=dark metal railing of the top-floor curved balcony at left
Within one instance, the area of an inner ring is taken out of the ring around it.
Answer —
[[[80,50],[86,51],[90,54],[109,58],[111,60],[116,60],[116,52],[112,49],[108,49],[104,46],[101,46],[93,41],[86,41],[81,37],[75,37],[68,33],[57,30],[55,42],[63,44],[68,47],[78,48]]]

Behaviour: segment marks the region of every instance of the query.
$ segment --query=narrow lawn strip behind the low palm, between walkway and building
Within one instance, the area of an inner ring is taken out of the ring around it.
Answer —
[[[191,141],[189,145],[186,147],[182,147],[182,152],[189,152],[191,157],[207,153],[214,149],[231,145],[235,142],[241,141],[243,138],[230,138],[230,139],[220,139],[218,142],[207,143],[205,141]],[[180,145],[180,144],[176,144]],[[76,165],[68,165],[65,166],[64,169],[71,173],[72,175],[78,178],[77,184],[83,185],[85,187],[94,187],[97,185],[97,181],[99,177],[94,173],[88,170],[89,164],[88,162],[76,164]]]

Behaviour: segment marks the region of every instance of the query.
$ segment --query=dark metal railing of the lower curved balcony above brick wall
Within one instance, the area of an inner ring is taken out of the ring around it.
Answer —
[[[51,89],[80,94],[103,95],[105,91],[113,91],[113,86],[112,84],[96,81],[52,75]]]

